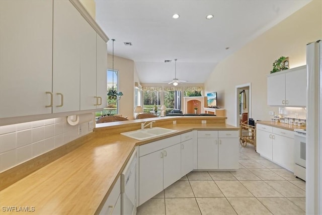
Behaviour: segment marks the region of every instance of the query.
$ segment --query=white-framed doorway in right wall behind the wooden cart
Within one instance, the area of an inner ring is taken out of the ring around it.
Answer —
[[[252,85],[251,83],[236,86],[236,123],[235,126],[239,127],[239,121],[243,113],[247,113],[247,120],[252,118]]]

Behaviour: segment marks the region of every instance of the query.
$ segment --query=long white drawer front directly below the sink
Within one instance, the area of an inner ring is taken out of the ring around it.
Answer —
[[[162,150],[167,147],[179,144],[181,142],[180,135],[172,136],[165,139],[160,139],[149,144],[139,146],[139,157]]]

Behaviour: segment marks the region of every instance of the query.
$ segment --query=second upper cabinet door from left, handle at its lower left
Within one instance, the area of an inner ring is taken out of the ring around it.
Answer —
[[[79,110],[82,19],[69,1],[54,1],[53,113]]]

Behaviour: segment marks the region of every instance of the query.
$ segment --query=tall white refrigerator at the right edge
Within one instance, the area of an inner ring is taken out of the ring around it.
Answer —
[[[322,41],[306,46],[306,214],[322,214]]]

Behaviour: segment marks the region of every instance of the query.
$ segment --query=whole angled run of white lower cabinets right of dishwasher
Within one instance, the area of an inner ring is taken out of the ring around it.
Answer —
[[[139,146],[138,205],[194,169],[238,169],[238,136],[237,130],[190,131]]]

